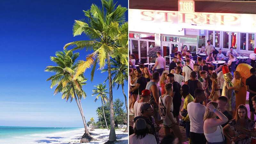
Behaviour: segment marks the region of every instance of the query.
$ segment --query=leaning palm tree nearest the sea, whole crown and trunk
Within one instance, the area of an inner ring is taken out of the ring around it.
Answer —
[[[72,101],[76,100],[76,104],[83,119],[85,133],[82,142],[90,142],[92,137],[87,129],[84,112],[81,104],[82,97],[86,97],[86,93],[82,90],[82,85],[86,84],[86,79],[83,74],[79,75],[77,79],[73,79],[76,68],[75,60],[79,56],[79,53],[64,50],[63,52],[56,52],[56,57],[50,57],[57,66],[47,66],[44,71],[54,72],[55,75],[48,78],[46,81],[51,80],[51,88],[57,85],[54,91],[54,95],[61,92],[62,98]]]

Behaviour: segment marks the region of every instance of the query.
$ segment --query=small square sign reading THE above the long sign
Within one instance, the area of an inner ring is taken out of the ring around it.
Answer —
[[[179,0],[178,4],[180,12],[195,12],[195,2],[193,0]]]

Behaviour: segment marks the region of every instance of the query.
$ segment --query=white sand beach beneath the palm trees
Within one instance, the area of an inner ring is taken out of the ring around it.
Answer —
[[[128,132],[124,129],[116,130],[117,144],[128,144]],[[89,131],[96,139],[86,144],[103,144],[108,141],[109,131],[107,129],[95,129]],[[49,134],[30,134],[17,136],[12,139],[0,139],[0,144],[78,144],[84,134],[84,128],[66,132],[53,132]]]

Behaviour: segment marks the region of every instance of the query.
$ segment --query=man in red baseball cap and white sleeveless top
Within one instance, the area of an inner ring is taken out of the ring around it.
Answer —
[[[150,99],[150,91],[149,90],[142,90],[141,92],[141,99],[135,101],[134,103],[134,117],[141,116],[142,114],[140,113],[140,107],[142,104],[147,103]]]

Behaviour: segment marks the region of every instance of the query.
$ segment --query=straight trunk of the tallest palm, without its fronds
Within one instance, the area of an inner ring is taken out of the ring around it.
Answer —
[[[113,109],[113,92],[112,92],[112,77],[110,67],[110,56],[108,54],[108,83],[109,83],[109,105],[110,105],[110,133],[108,141],[116,141],[115,122],[114,122],[114,109]]]

